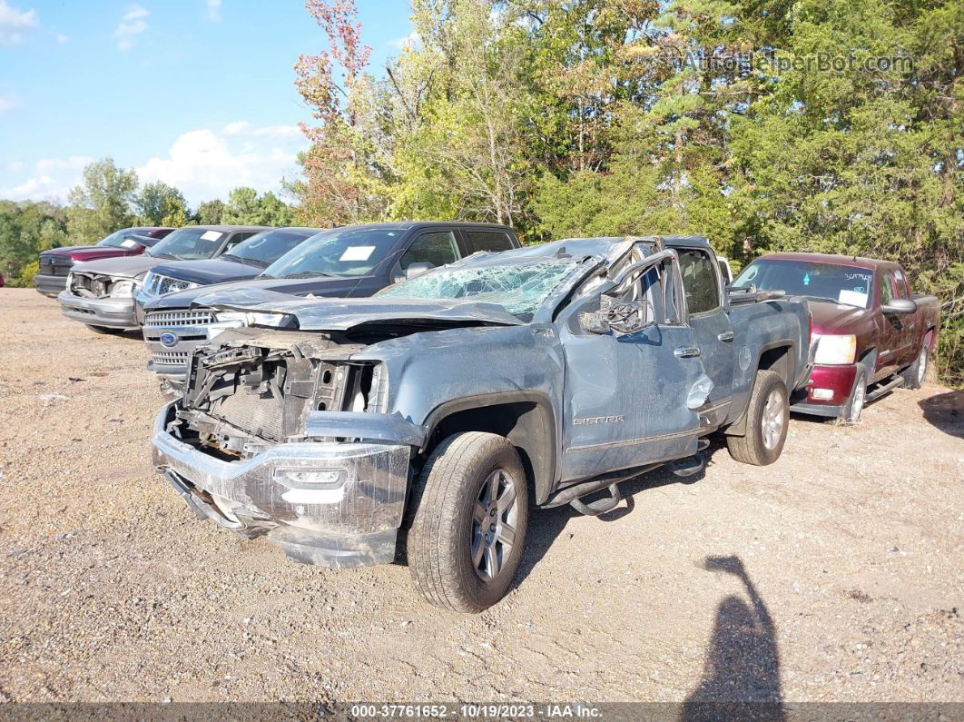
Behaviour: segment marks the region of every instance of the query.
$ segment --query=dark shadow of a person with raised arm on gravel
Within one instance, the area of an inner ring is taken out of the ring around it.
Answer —
[[[720,602],[703,679],[683,703],[681,719],[785,719],[776,628],[766,604],[739,557],[708,556],[703,568],[736,576],[749,603],[736,595]]]

